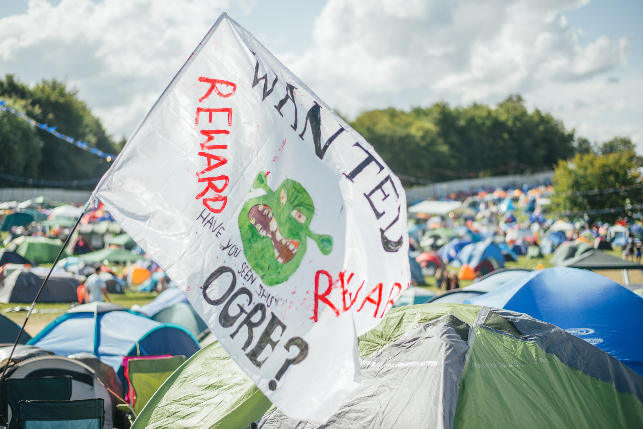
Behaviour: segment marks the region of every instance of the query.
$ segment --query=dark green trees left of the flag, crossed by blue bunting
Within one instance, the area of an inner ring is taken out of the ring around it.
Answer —
[[[33,87],[13,75],[0,79],[0,100],[39,123],[86,142],[109,154],[118,154],[124,140],[115,141],[102,123],[70,89],[56,79],[42,80]],[[0,112],[0,172],[19,178],[73,181],[100,178],[110,163],[47,131],[33,127],[22,118]],[[0,187],[35,187],[0,178]],[[84,187],[93,189],[94,185]]]

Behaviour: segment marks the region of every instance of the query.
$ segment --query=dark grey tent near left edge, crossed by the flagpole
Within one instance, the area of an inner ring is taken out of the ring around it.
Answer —
[[[17,269],[0,282],[0,302],[33,302],[48,270]],[[39,302],[77,302],[76,289],[81,278],[64,271],[53,271],[39,298]]]

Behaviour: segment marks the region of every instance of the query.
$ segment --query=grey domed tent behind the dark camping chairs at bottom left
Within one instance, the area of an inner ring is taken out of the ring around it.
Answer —
[[[113,428],[116,397],[110,394],[105,386],[112,389],[114,386],[81,361],[62,356],[37,356],[21,361],[7,371],[7,378],[10,379],[66,375],[71,376],[71,400],[95,397],[104,399],[103,429]]]

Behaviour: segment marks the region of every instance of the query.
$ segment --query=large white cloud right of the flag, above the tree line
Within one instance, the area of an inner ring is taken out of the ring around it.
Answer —
[[[608,105],[643,107],[640,86],[635,96],[620,90],[624,82],[606,84],[606,73],[626,67],[633,36],[585,43],[582,29],[568,24],[565,12],[586,3],[329,0],[315,23],[314,46],[285,60],[327,103],[352,115],[438,100],[493,104],[520,93],[531,105],[556,107],[568,127],[590,138],[626,129],[638,138],[635,122],[607,126],[583,116]],[[623,94],[614,97],[615,87]]]

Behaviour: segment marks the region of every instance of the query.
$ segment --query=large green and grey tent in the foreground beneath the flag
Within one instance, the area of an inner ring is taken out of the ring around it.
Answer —
[[[503,309],[391,309],[358,340],[362,381],[324,428],[640,428],[643,378],[554,325]],[[255,422],[253,424],[253,422]],[[271,407],[212,343],[170,376],[133,429],[318,428]]]

